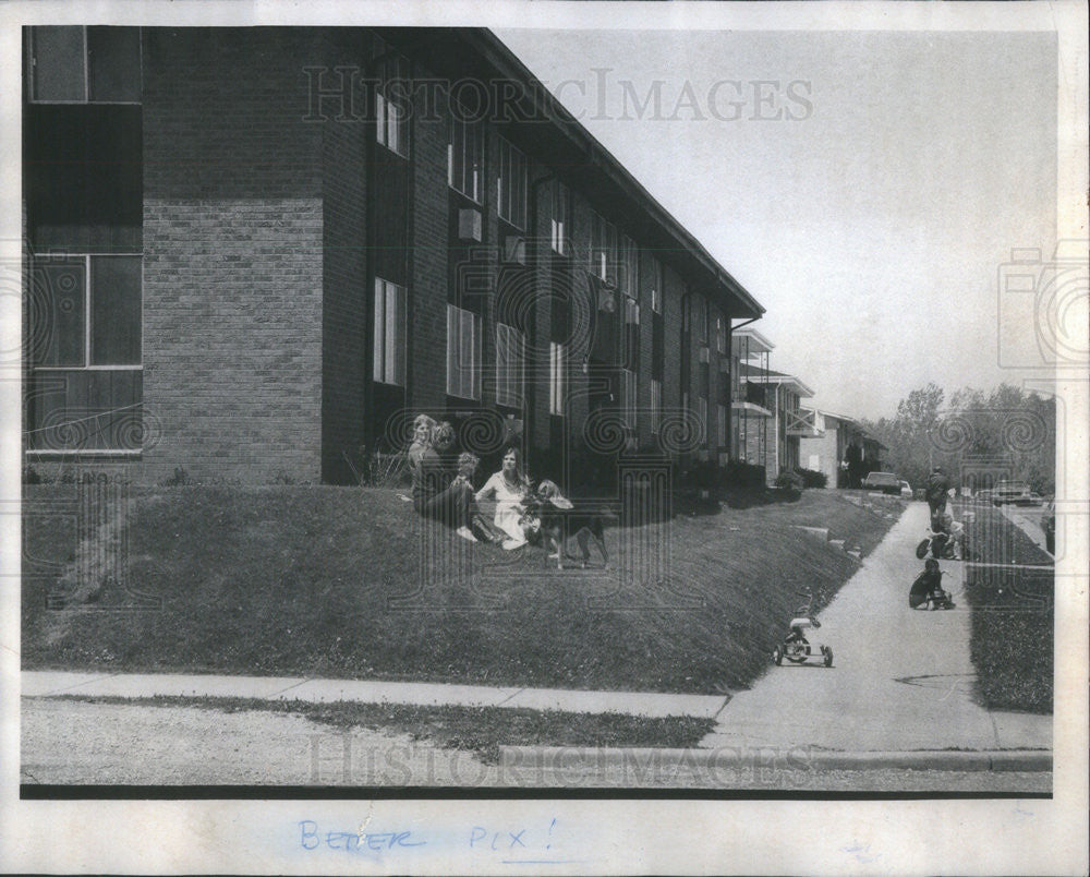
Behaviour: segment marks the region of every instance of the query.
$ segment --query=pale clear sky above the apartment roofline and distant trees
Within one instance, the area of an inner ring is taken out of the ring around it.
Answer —
[[[1042,376],[1002,266],[1055,247],[1052,34],[496,33],[765,307],[811,403]]]

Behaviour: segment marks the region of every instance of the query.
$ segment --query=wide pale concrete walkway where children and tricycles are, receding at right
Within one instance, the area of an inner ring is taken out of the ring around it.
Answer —
[[[942,563],[957,609],[908,608],[923,564],[913,549],[928,507],[900,520],[822,613],[811,642],[833,649],[834,665],[771,665],[719,713],[715,746],[809,746],[859,752],[1051,749],[1052,717],[992,712],[972,701],[969,609],[964,567]],[[785,624],[787,620],[785,618]]]

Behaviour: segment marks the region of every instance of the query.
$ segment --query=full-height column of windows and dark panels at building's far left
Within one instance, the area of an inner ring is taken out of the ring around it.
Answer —
[[[28,449],[137,453],[141,29],[27,29]]]

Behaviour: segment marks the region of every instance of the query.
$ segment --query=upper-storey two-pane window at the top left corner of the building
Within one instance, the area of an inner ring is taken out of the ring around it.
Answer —
[[[138,27],[39,26],[31,29],[31,100],[138,104]]]

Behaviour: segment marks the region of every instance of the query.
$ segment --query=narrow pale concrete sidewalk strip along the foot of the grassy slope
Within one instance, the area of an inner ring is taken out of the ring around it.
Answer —
[[[23,671],[23,697],[240,697],[256,700],[305,700],[416,706],[504,707],[620,712],[657,719],[692,716],[712,719],[723,709],[723,695],[658,692],[577,692],[559,688],[499,688],[423,682],[308,680],[263,676],[182,675],[167,673],[65,673]]]

